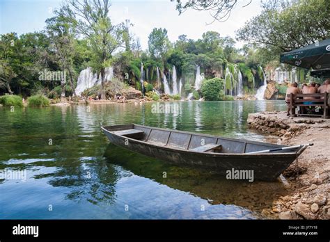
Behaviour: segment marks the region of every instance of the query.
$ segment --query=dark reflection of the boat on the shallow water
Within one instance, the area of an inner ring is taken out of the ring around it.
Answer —
[[[212,204],[234,204],[251,211],[272,209],[272,202],[288,191],[278,182],[228,181],[219,175],[172,166],[164,161],[129,152],[109,144],[104,157],[111,163],[180,191],[192,193]],[[166,172],[166,178],[163,177]]]

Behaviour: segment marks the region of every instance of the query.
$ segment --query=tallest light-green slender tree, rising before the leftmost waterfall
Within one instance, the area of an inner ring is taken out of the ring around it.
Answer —
[[[101,98],[105,99],[105,68],[111,65],[113,52],[125,47],[127,29],[124,23],[114,25],[108,17],[109,0],[69,0],[63,7],[65,17],[74,24],[78,33],[88,38],[92,48],[91,66],[101,75]]]

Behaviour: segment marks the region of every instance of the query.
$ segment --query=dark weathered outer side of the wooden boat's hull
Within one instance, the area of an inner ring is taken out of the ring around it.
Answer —
[[[136,129],[139,129],[139,127],[137,126]],[[141,126],[140,129],[143,129],[143,127]],[[191,150],[184,150],[180,147],[172,147],[164,144],[159,145],[158,143],[148,143],[143,140],[120,136],[115,134],[116,131],[111,131],[111,128],[109,130],[109,127],[102,127],[102,130],[111,143],[124,147],[127,150],[145,154],[146,156],[152,156],[163,161],[171,162],[178,166],[191,166],[194,168],[210,170],[223,175],[227,179],[228,174],[233,175],[233,171],[238,170],[247,172],[253,171],[253,180],[275,180],[279,175],[281,175],[281,172],[283,172],[285,168],[288,168],[290,163],[292,163],[302,152],[302,150],[299,150],[298,152],[276,154],[194,152]],[[165,129],[160,130],[164,131]],[[175,131],[175,133],[176,132],[180,133],[180,131]],[[187,132],[182,133],[189,134]],[[201,134],[196,135],[201,136]],[[205,136],[205,138],[208,137],[213,136]],[[231,140],[233,139],[230,139],[230,141]],[[223,140],[221,141],[223,142]],[[237,140],[237,142],[242,142],[242,140]],[[278,145],[274,145],[274,147],[278,147]],[[235,179],[234,176],[229,178]],[[239,179],[242,179],[242,177],[239,177]]]

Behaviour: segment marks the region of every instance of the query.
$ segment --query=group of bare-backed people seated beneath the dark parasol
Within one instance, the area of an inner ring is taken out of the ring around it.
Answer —
[[[290,97],[288,95],[290,93],[292,94],[313,94],[313,93],[324,93],[324,92],[329,92],[330,93],[330,79],[327,79],[324,81],[322,85],[319,83],[310,83],[309,85],[304,83],[301,85],[301,89],[298,88],[298,83],[294,82],[291,84],[290,87],[286,90],[285,94],[285,103],[288,106],[288,114],[290,115]],[[308,100],[315,99],[314,97],[304,97],[304,100],[306,99],[306,102],[303,102],[303,104],[308,105],[308,104],[315,104],[315,102],[311,102]]]

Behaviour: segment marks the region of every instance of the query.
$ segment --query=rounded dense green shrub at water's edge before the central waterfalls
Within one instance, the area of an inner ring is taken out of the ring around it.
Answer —
[[[223,79],[213,78],[204,80],[201,92],[206,101],[218,101],[220,92],[223,92]]]

